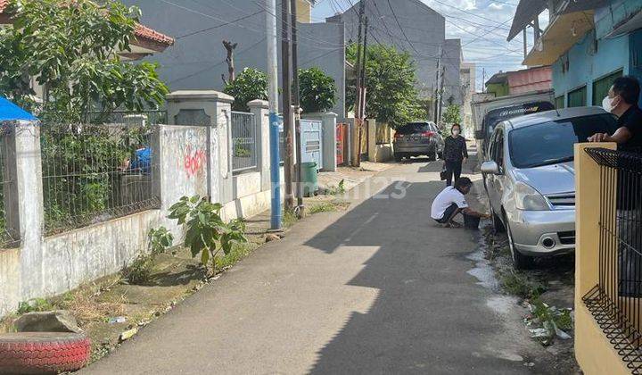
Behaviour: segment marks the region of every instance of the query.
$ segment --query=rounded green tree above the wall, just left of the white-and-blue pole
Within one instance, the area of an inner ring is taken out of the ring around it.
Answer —
[[[234,96],[234,111],[249,112],[248,102],[268,100],[268,74],[253,68],[245,68],[223,89],[227,95]]]

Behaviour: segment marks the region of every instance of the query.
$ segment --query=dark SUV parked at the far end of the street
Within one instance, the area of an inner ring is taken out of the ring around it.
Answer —
[[[397,129],[392,145],[397,162],[420,155],[437,160],[443,153],[444,140],[434,122],[408,122]]]

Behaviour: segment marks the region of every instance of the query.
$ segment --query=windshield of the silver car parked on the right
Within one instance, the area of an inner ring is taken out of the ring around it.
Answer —
[[[516,168],[571,162],[573,145],[595,133],[613,134],[617,127],[611,114],[547,121],[510,132],[508,147]]]

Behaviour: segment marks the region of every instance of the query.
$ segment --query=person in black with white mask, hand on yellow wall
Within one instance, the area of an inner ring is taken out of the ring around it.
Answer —
[[[615,79],[603,106],[607,112],[618,116],[618,129],[612,136],[597,133],[588,137],[588,141],[615,142],[622,151],[642,152],[642,110],[638,107],[639,95],[638,79],[630,76]]]

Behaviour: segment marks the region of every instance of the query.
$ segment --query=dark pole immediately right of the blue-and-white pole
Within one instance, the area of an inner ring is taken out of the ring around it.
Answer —
[[[290,2],[281,1],[281,76],[283,79],[285,209],[292,210],[292,77],[290,75]]]

